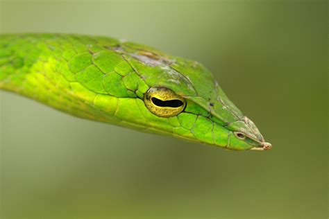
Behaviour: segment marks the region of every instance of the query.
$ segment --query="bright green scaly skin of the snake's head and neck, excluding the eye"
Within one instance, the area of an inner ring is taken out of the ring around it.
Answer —
[[[185,98],[183,112],[169,118],[152,114],[144,104],[150,87]],[[132,42],[86,35],[0,35],[0,89],[84,119],[233,150],[271,148],[202,64]]]

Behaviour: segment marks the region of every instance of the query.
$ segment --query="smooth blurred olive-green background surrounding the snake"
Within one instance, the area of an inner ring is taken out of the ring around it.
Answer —
[[[1,95],[1,218],[328,218],[327,1],[1,1],[1,33],[83,33],[207,66],[273,149],[231,152]]]

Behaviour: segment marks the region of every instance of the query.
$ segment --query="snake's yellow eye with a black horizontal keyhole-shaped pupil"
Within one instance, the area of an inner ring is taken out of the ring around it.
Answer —
[[[156,116],[171,117],[183,111],[186,101],[165,87],[151,87],[144,94],[144,103]]]

